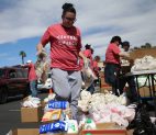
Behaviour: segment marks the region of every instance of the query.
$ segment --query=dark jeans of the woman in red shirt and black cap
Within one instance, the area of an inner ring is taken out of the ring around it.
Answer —
[[[119,90],[119,75],[120,75],[120,65],[116,64],[107,64],[104,68],[104,79],[108,85],[112,87],[112,92],[116,95],[120,93]]]

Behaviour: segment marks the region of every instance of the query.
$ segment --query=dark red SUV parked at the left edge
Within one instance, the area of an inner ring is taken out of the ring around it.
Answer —
[[[0,68],[0,103],[5,103],[9,97],[30,92],[27,69],[20,66]]]

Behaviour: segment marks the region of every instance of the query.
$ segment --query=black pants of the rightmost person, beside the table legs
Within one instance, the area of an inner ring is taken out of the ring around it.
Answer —
[[[135,83],[134,77],[133,76],[122,77],[120,79],[120,90],[121,91],[123,91],[126,82],[129,85],[129,91],[126,91],[127,98],[130,99],[130,102],[136,102],[138,94],[137,94],[137,91],[136,91],[136,83]]]

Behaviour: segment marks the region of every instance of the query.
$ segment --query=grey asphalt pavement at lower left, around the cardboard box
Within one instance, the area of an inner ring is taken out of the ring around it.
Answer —
[[[38,97],[44,99],[47,93],[40,93]],[[13,128],[33,128],[40,127],[41,123],[22,123],[21,122],[21,101],[22,97],[10,98],[4,104],[0,104],[0,135],[5,135]]]

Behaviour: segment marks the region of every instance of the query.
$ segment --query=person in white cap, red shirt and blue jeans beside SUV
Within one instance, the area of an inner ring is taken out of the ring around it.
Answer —
[[[32,60],[27,60],[26,65],[23,67],[29,68],[29,81],[30,81],[30,90],[32,97],[37,97],[37,76],[35,72],[35,66]]]

